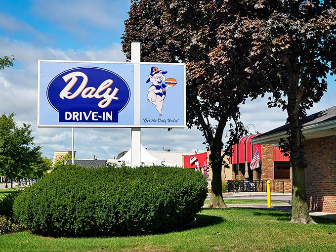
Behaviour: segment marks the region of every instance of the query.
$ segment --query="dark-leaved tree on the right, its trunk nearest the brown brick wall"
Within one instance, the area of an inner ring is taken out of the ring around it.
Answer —
[[[213,52],[215,60],[227,51],[246,51],[248,67],[237,65],[247,88],[271,92],[269,107],[287,111],[288,136],[280,146],[293,168],[292,222],[314,222],[308,214],[302,125],[306,110],[327,90],[327,75],[336,71],[335,1],[327,0],[223,0],[213,1],[224,20],[217,37],[225,48]],[[257,93],[253,95],[257,96]]]

